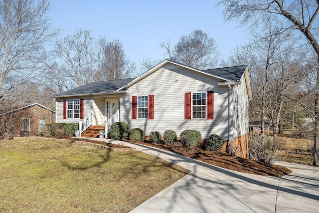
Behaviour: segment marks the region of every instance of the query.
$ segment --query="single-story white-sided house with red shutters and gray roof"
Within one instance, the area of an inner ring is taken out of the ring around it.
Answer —
[[[89,83],[55,98],[56,122],[80,122],[80,132],[90,125],[108,131],[119,120],[146,136],[192,129],[237,144],[247,157],[248,66],[199,70],[164,60],[137,78]]]

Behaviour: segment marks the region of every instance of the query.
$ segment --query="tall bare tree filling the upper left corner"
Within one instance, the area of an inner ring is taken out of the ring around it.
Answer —
[[[49,8],[48,0],[0,0],[0,100],[41,74],[43,47],[59,31]]]

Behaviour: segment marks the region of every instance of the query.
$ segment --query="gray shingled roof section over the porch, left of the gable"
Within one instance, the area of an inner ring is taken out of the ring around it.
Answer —
[[[65,92],[57,94],[55,97],[65,97],[65,96],[74,96],[74,95],[83,95],[83,94],[93,94],[93,93],[106,93],[106,92],[115,92],[122,86],[131,82],[135,78],[127,78],[113,81],[98,81],[89,83],[74,89],[70,89]]]

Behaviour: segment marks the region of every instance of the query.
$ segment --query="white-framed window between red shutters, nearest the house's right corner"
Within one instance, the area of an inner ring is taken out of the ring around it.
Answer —
[[[192,117],[206,119],[206,92],[192,93]]]

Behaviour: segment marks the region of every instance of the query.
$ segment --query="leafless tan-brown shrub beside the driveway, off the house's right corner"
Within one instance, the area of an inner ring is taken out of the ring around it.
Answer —
[[[264,164],[273,164],[281,159],[278,150],[283,149],[285,141],[264,135],[258,135],[249,140],[252,158]]]

